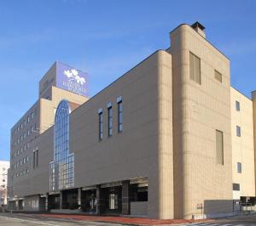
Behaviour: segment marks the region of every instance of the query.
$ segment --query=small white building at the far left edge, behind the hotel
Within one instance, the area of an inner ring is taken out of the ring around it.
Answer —
[[[7,172],[9,161],[0,161],[0,206],[7,204]]]

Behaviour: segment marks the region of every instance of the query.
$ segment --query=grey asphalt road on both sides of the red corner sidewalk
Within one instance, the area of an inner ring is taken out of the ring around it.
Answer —
[[[42,218],[37,215],[0,213],[0,226],[119,226],[118,223],[82,222],[64,218]],[[124,224],[123,224],[124,225]],[[256,215],[242,218],[222,218],[205,223],[188,223],[188,226],[256,226]]]

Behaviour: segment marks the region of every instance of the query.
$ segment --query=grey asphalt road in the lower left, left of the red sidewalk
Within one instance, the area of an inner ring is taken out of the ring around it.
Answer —
[[[96,222],[82,222],[75,220],[68,220],[63,218],[38,218],[36,216],[24,216],[22,214],[10,214],[1,213],[0,214],[0,226],[119,226],[121,224],[116,223],[96,223]]]

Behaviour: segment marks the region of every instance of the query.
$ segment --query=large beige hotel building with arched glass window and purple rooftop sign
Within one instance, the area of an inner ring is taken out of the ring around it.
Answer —
[[[90,99],[84,72],[56,62],[11,129],[9,209],[165,219],[254,205],[256,93],[230,87],[204,30],[177,26]]]

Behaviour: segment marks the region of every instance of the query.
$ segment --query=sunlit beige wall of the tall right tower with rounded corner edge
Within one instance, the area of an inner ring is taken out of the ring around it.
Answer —
[[[171,33],[175,218],[231,212],[230,61],[189,25]],[[189,52],[201,59],[201,84],[189,79]],[[214,79],[214,70],[223,82]],[[215,131],[224,133],[224,165]]]

